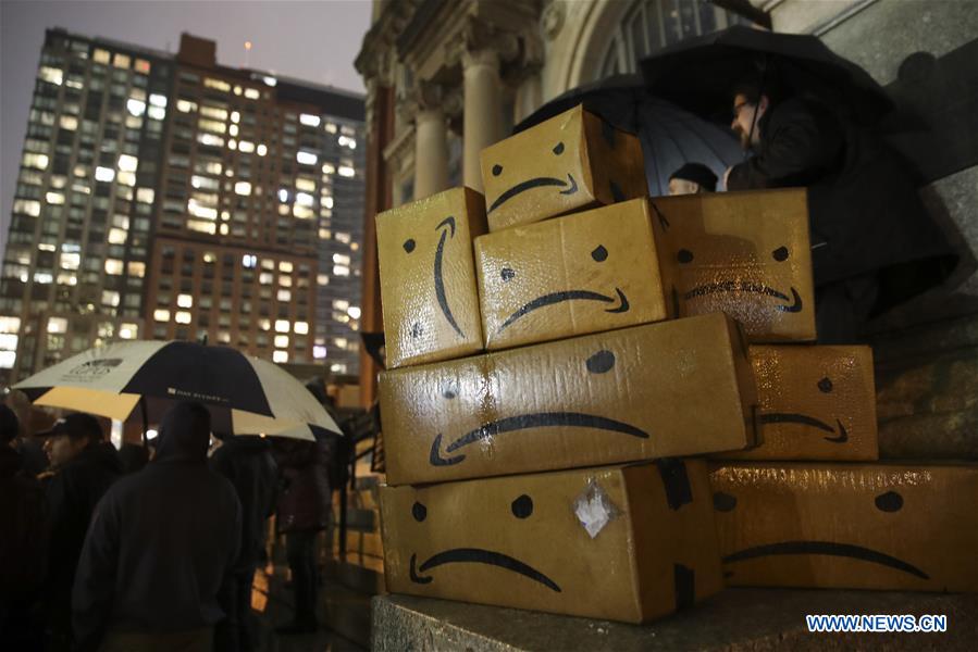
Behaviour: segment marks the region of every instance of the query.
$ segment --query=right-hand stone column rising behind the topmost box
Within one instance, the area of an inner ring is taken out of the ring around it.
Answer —
[[[503,139],[499,102],[499,54],[495,50],[468,51],[462,55],[465,74],[465,113],[462,137],[465,153],[462,178],[466,186],[482,192],[480,152]]]

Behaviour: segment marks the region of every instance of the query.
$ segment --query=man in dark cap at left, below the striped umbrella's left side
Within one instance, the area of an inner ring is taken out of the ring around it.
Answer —
[[[102,427],[90,414],[73,413],[38,432],[51,461],[45,479],[48,559],[45,579],[47,647],[70,650],[71,595],[78,555],[95,507],[122,475],[122,463]]]

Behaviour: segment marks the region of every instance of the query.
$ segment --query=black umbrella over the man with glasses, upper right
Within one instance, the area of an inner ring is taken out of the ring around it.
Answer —
[[[729,115],[733,86],[750,76],[820,98],[870,124],[893,103],[853,62],[807,34],[776,34],[736,25],[685,39],[642,60],[648,90],[698,115]]]

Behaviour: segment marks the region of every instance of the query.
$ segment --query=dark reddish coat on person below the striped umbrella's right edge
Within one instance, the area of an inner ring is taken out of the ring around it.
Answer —
[[[323,529],[330,524],[330,455],[320,441],[280,441],[275,460],[282,474],[276,524],[280,532]]]

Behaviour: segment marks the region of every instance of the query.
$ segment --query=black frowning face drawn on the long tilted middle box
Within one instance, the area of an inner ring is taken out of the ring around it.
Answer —
[[[605,383],[616,383],[615,374],[610,372],[616,364],[616,355],[612,351],[602,349],[595,351],[590,358],[583,361],[581,368],[578,369],[580,375],[590,375],[592,377],[605,377]],[[601,379],[596,380],[601,383]],[[579,384],[583,385],[583,384]],[[467,389],[480,391],[480,387],[459,388],[458,385],[447,381],[442,389],[441,398],[444,399],[443,410],[454,412],[453,401],[459,399],[459,392]],[[469,401],[475,397],[467,397]],[[568,406],[573,401],[566,401]],[[637,439],[648,439],[649,434],[632,424],[619,421],[609,416],[594,414],[590,412],[578,412],[574,410],[547,410],[547,411],[528,411],[511,416],[503,416],[484,421],[479,427],[460,434],[448,435],[445,438],[444,432],[437,432],[431,443],[431,452],[429,454],[429,463],[432,466],[450,466],[461,464],[466,461],[468,451],[482,453],[484,447],[492,447],[500,437],[533,437],[547,432],[550,428],[561,429],[580,429],[582,432],[592,435],[609,436],[609,437],[632,437]],[[445,443],[445,453],[442,453],[443,438],[447,439]]]

